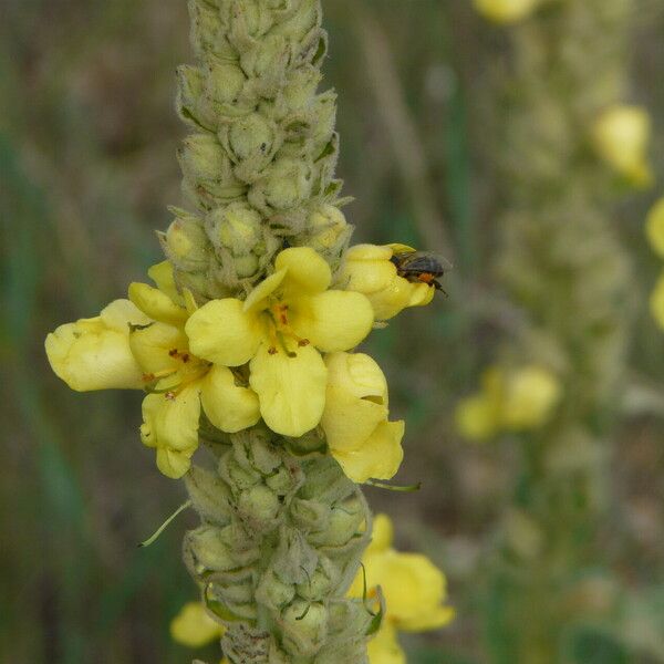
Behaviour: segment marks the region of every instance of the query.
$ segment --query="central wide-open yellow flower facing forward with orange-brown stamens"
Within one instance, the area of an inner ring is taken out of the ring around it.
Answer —
[[[286,436],[314,428],[323,414],[328,370],[319,351],[357,345],[371,331],[369,300],[328,290],[328,263],[308,247],[286,249],[276,272],[245,302],[208,302],[187,321],[191,351],[216,365],[250,362],[249,383],[266,424]]]

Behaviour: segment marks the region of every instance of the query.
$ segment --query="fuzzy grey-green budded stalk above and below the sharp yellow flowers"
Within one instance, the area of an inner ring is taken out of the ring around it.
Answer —
[[[335,95],[318,93],[328,38],[318,0],[191,0],[195,65],[178,70],[179,153],[193,212],[162,236],[198,301],[243,297],[276,253],[310,246],[333,268],[350,227],[335,207]],[[371,532],[360,488],[315,433],[201,427],[211,468],[185,481],[200,526],[185,562],[226,625],[234,664],[366,662],[371,614],[345,599]]]

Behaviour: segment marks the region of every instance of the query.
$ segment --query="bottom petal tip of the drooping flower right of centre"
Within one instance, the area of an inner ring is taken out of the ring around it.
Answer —
[[[405,425],[400,422],[381,422],[364,445],[353,452],[331,449],[346,477],[357,484],[370,478],[392,479],[404,458],[401,440]]]

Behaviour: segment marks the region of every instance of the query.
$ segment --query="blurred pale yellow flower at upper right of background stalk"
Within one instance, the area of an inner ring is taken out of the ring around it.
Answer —
[[[636,187],[647,187],[653,175],[647,162],[651,118],[641,106],[615,105],[592,127],[598,155]]]

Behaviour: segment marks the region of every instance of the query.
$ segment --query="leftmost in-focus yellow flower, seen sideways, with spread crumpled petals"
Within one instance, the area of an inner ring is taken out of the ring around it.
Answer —
[[[74,390],[146,388],[141,439],[157,450],[159,470],[181,477],[198,447],[200,408],[219,429],[234,433],[260,419],[258,397],[224,365],[189,350],[184,305],[167,262],[149,270],[160,289],[132,283],[96,319],[61,325],[49,334],[53,371]],[[163,289],[163,290],[162,290]],[[167,294],[169,293],[169,294]],[[175,298],[175,300],[174,300]]]

